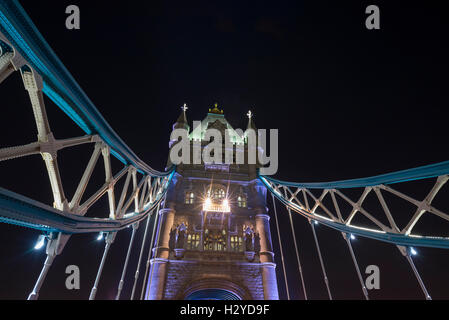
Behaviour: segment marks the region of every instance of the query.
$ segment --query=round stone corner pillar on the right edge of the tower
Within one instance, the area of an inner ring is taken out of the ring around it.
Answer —
[[[276,280],[276,264],[274,263],[273,245],[271,243],[270,216],[256,215],[256,229],[260,237],[260,263],[265,300],[279,300]]]

